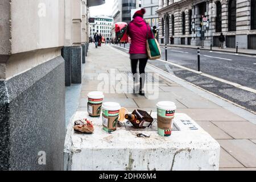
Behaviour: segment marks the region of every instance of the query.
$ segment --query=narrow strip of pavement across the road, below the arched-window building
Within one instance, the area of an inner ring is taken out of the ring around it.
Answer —
[[[165,44],[160,44],[160,46],[164,46]],[[192,49],[197,49],[200,47],[200,49],[204,50],[210,50],[210,47],[204,46],[204,48],[201,48],[201,46],[191,46],[191,45],[180,45],[180,44],[167,44],[168,47],[180,47],[180,48],[192,48]],[[221,49],[218,47],[212,47],[212,51],[220,51],[220,52],[232,52],[236,53],[236,48],[225,48]],[[247,55],[256,55],[256,50],[255,49],[240,49],[238,45],[238,53],[244,53]]]

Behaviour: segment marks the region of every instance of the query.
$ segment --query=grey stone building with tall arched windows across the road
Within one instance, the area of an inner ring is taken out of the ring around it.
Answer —
[[[238,43],[239,48],[256,49],[255,4],[254,0],[159,0],[159,42],[170,43],[174,36],[174,44],[218,46],[222,32],[226,47]],[[202,26],[202,15],[208,27]]]

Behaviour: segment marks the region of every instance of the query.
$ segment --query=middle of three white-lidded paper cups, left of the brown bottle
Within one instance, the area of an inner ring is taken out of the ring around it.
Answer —
[[[104,102],[102,104],[102,125],[105,131],[117,130],[120,109],[121,106],[116,102]]]

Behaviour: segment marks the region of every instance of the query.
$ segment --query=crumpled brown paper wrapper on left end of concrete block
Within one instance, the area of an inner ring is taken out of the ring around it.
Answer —
[[[79,120],[75,121],[75,126],[73,127],[73,129],[77,133],[90,134],[90,133],[93,133],[93,131],[94,131],[92,122],[87,119],[79,119]]]

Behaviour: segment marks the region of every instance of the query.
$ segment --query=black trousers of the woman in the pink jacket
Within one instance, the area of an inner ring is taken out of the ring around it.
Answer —
[[[147,65],[147,60],[148,58],[144,58],[144,59],[131,59],[131,72],[133,72],[133,75],[135,76],[135,81],[136,81],[136,73],[137,73],[137,65],[139,62],[139,75],[140,75],[140,90],[142,90],[144,88],[144,83],[146,80],[146,75],[145,75],[145,68]]]

